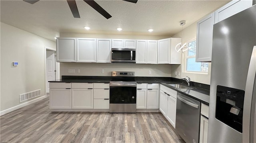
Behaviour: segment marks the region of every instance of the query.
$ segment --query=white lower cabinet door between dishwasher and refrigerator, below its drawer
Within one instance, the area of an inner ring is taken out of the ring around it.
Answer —
[[[207,143],[208,136],[208,118],[201,115],[200,119],[200,139],[199,143]]]

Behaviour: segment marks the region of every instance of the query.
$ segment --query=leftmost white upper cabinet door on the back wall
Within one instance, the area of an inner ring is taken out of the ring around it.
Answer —
[[[56,39],[57,62],[76,62],[76,38]]]

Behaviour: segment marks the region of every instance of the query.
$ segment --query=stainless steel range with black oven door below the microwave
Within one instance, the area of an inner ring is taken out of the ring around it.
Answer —
[[[136,113],[134,72],[112,72],[110,81],[110,113]]]

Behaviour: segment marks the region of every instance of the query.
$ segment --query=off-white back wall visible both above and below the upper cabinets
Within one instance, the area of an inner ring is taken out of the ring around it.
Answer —
[[[110,38],[110,39],[149,39],[158,40],[170,36],[150,35],[110,35],[90,33],[60,33],[60,37],[84,37],[84,38]],[[76,73],[68,73],[68,69],[75,69]],[[80,73],[77,73],[80,69]],[[104,69],[104,73],[101,70]],[[152,73],[148,74],[148,70]],[[131,63],[60,63],[60,75],[79,76],[111,76],[112,71],[135,71],[135,76],[171,76],[170,65],[131,64]]]

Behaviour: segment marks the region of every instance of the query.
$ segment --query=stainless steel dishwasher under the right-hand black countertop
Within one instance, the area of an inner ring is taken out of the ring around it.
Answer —
[[[177,94],[176,131],[186,143],[199,143],[201,103]]]

